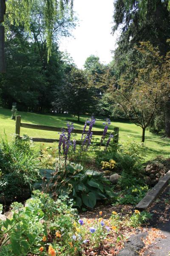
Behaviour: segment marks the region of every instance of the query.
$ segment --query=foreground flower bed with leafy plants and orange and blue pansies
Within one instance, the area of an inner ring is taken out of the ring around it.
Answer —
[[[126,215],[113,211],[108,219],[99,211],[94,219],[79,218],[67,197],[54,201],[34,191],[25,207],[13,203],[6,221],[0,221],[0,255],[91,255],[102,252],[111,240],[112,255],[116,255],[134,227],[149,218],[149,213],[139,211]]]

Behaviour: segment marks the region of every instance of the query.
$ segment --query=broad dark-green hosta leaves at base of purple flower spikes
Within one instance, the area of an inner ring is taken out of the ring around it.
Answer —
[[[102,177],[99,172],[83,171],[80,165],[66,166],[55,172],[50,169],[41,169],[42,180],[34,184],[35,189],[56,195],[69,195],[75,201],[75,206],[94,208],[97,200],[114,199],[115,194],[110,188],[110,181]]]

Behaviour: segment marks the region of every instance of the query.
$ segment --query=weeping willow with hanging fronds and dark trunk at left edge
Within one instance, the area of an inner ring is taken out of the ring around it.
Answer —
[[[34,9],[34,5],[40,2],[40,0],[0,0],[0,26],[4,21],[4,13],[8,14],[8,19],[11,24],[14,25],[23,25],[27,31],[30,31],[30,17],[31,12]],[[58,15],[61,17],[65,12],[70,10],[72,16],[72,7],[73,0],[42,0],[41,1],[43,9],[42,15],[43,20],[45,21],[45,31],[46,31],[46,41],[48,47],[48,58],[51,55],[52,42],[53,42],[53,32],[54,24],[57,20]],[[0,29],[0,72],[4,71],[4,53],[3,53],[3,41],[4,41],[4,32],[3,29]]]

